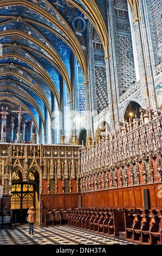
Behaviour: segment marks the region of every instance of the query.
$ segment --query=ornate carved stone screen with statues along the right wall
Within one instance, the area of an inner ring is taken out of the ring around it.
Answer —
[[[128,186],[128,179],[132,185],[140,184],[141,177],[145,183],[154,182],[155,171],[159,181],[162,180],[162,111],[161,108],[157,112],[141,108],[140,112],[139,119],[120,122],[120,129],[107,133],[99,144],[93,141],[90,147],[82,147],[81,192]],[[153,168],[152,159],[157,159],[157,169]],[[100,180],[101,173],[106,175]]]

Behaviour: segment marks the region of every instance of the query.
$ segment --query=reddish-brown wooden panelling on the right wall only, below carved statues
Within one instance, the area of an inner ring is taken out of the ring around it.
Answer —
[[[144,208],[144,188],[150,194],[151,209],[162,209],[162,184],[130,186],[82,193],[83,208]]]

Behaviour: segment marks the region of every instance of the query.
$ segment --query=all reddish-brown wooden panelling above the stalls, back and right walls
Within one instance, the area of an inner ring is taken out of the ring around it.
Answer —
[[[110,190],[86,192],[81,194],[83,208],[119,208],[143,209],[144,188],[150,194],[151,209],[162,209],[162,184],[131,186]],[[70,209],[78,207],[77,193],[43,194],[44,205],[52,209]]]

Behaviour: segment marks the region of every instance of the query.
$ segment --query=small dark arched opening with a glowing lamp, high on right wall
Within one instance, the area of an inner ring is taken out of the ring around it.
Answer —
[[[129,120],[133,120],[135,118],[135,116],[137,118],[140,118],[140,105],[135,102],[135,101],[130,101],[127,108],[126,108],[126,111],[125,111],[125,115],[124,115],[124,119],[129,121]]]

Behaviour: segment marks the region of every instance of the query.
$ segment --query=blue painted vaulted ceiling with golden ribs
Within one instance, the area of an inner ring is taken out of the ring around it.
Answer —
[[[61,110],[60,78],[73,100],[70,62],[74,54],[88,82],[88,21],[99,33],[108,54],[105,0],[0,1],[0,104],[22,107],[27,118],[45,125],[52,115],[53,94]],[[102,13],[102,14],[101,14]],[[44,126],[45,127],[45,126]]]

